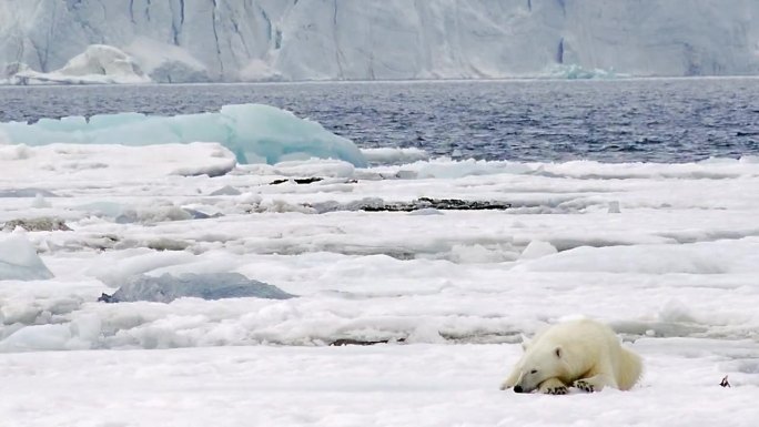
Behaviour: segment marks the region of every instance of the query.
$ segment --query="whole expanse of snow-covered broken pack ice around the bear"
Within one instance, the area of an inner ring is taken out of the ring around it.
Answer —
[[[159,149],[181,154],[159,160]],[[52,277],[0,281],[0,419],[759,419],[756,157],[603,164],[375,154],[394,164],[292,160],[209,176],[173,172],[183,162],[203,170],[233,160],[219,144],[2,146],[11,174],[0,176],[0,221],[55,217],[71,231],[22,233]],[[163,164],[171,159],[175,164]],[[70,176],[60,179],[67,164]],[[311,176],[323,180],[290,180]],[[48,203],[32,206],[38,193]],[[371,197],[512,207],[320,214],[306,206]],[[618,213],[609,213],[613,204]],[[134,213],[130,221],[119,221],[124,212]],[[186,273],[239,273],[298,297],[97,301],[134,275]],[[638,386],[563,397],[498,390],[520,354],[520,334],[578,314],[610,323],[644,357]],[[387,344],[328,346],[340,339]],[[730,388],[719,386],[726,375]]]

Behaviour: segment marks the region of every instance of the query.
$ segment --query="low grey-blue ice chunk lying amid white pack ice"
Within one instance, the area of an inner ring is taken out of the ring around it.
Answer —
[[[98,301],[104,303],[138,301],[171,303],[182,297],[287,299],[294,296],[276,286],[250,279],[240,273],[184,273],[176,276],[165,273],[159,277],[144,274],[132,276],[113,295],[103,294]]]

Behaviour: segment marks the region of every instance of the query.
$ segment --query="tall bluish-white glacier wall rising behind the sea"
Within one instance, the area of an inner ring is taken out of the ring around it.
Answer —
[[[0,74],[90,44],[155,81],[759,74],[757,0],[2,0]],[[1,78],[1,75],[0,75]]]

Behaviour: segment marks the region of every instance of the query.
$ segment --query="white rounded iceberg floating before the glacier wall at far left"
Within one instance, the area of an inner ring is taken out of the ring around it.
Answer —
[[[140,65],[126,53],[111,45],[92,44],[63,68],[51,72],[32,70],[24,63],[6,68],[11,84],[139,84],[151,83]]]

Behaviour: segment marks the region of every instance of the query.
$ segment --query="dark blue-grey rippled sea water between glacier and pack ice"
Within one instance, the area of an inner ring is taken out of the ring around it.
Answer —
[[[759,79],[0,88],[0,121],[265,103],[362,148],[487,160],[759,154]]]

